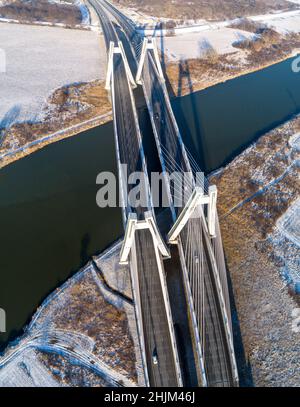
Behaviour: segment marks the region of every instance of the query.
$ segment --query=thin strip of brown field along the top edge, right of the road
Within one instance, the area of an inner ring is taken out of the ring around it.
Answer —
[[[285,0],[113,0],[157,17],[221,20],[297,8]]]

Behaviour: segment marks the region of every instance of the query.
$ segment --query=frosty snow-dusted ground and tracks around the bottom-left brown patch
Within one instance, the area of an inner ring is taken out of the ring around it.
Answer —
[[[101,294],[104,295],[109,302],[117,304],[120,309],[126,312],[129,329],[137,352],[136,369],[138,380],[140,385],[144,385],[143,367],[139,357],[139,342],[133,304],[128,301],[116,301],[117,296],[112,294],[105,287],[97,276],[94,266],[89,263],[46,298],[34,315],[30,325],[27,327],[25,335],[11,344],[3,357],[0,357],[0,387],[2,387],[2,384],[17,387],[53,387],[59,385],[55,380],[49,382],[49,377],[52,378],[52,376],[49,376],[44,365],[41,365],[39,360],[37,360],[34,350],[40,350],[46,353],[54,352],[67,360],[71,360],[72,363],[88,367],[101,377],[104,376],[104,379],[112,386],[119,386],[120,383],[130,387],[135,385],[135,382],[128,378],[127,375],[124,375],[113,366],[108,365],[101,357],[93,353],[95,342],[92,338],[80,332],[58,329],[56,327],[56,309],[60,310],[64,308],[66,302],[68,302],[70,289],[81,280],[85,278],[88,279],[89,276],[92,276],[95,284],[100,288]],[[31,358],[30,363],[26,362],[22,364],[21,367],[25,373],[23,373],[23,371],[19,373],[19,361],[23,362],[24,355],[26,358],[28,352],[31,352],[30,354],[34,355],[34,358]],[[26,369],[24,369],[25,365],[27,366]],[[42,369],[43,371],[41,371]],[[44,373],[44,370],[46,373]],[[30,374],[28,374],[28,372]],[[13,375],[15,375],[15,378],[9,381],[8,376]],[[37,380],[39,375],[41,376],[40,382]]]

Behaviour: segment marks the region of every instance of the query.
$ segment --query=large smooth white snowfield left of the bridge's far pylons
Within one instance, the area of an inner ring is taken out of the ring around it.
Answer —
[[[0,23],[0,48],[0,127],[42,119],[55,89],[105,77],[104,41],[93,31]]]

